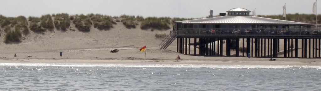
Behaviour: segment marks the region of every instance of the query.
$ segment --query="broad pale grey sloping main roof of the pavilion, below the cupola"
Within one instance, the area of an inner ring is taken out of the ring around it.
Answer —
[[[202,18],[194,20],[177,21],[174,23],[219,23],[219,24],[296,24],[314,25],[310,23],[300,23],[279,19],[264,18],[258,16],[218,16],[212,18]]]

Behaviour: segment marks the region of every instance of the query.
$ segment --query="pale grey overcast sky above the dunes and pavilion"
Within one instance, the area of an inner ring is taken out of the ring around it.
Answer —
[[[317,3],[321,7],[319,1]],[[256,15],[282,14],[285,3],[287,14],[312,14],[314,2],[315,0],[1,0],[0,14],[28,17],[56,13],[93,13],[200,18],[208,16],[210,10],[218,15],[236,7],[250,11],[256,8]],[[317,12],[321,13],[321,9],[317,8]]]

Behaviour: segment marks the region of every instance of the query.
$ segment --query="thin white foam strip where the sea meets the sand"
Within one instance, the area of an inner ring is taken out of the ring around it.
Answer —
[[[56,67],[169,67],[169,68],[318,68],[321,66],[286,65],[207,65],[207,64],[49,64],[49,63],[0,63],[0,66],[56,66]]]

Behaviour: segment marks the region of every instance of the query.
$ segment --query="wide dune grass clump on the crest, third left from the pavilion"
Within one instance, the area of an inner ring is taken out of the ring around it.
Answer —
[[[94,27],[99,30],[109,30],[113,24],[116,24],[111,16],[95,14],[90,17]]]

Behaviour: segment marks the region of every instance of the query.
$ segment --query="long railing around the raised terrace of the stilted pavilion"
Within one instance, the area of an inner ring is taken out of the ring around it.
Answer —
[[[180,28],[178,35],[309,35],[321,36],[318,29],[298,28]]]

